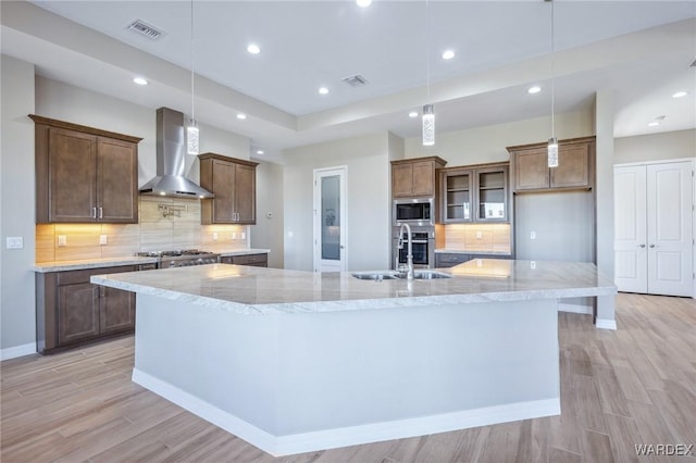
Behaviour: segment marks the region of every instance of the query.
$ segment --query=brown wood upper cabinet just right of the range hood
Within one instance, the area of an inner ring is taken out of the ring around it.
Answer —
[[[259,163],[215,153],[198,158],[200,186],[215,195],[201,202],[201,224],[256,224]]]

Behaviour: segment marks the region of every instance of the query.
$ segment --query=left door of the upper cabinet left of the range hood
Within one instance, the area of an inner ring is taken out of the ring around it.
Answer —
[[[97,220],[97,137],[49,129],[49,222]]]

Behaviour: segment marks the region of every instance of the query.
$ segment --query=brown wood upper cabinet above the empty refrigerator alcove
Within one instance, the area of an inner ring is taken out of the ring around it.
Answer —
[[[548,167],[546,143],[508,147],[514,192],[589,189],[594,184],[595,137],[558,142],[558,167]]]

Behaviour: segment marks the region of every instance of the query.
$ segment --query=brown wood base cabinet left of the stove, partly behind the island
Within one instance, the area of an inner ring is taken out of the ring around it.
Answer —
[[[36,275],[37,348],[51,353],[135,330],[135,293],[92,285],[89,277],[134,272],[124,265]]]

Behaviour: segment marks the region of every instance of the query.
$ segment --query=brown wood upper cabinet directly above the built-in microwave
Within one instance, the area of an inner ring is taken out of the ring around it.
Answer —
[[[437,192],[436,170],[447,161],[437,158],[418,158],[391,161],[391,197],[435,197]]]

